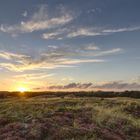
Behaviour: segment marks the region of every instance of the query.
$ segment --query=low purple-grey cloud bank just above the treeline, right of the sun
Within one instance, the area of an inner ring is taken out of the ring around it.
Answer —
[[[108,82],[105,84],[93,83],[70,83],[67,85],[55,85],[47,87],[49,90],[140,90],[139,83],[125,83],[125,82]]]

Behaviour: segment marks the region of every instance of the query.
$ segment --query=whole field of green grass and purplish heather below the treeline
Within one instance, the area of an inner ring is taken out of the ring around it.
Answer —
[[[27,97],[16,93],[0,99],[0,140],[139,138],[140,99],[137,98],[74,94]]]

